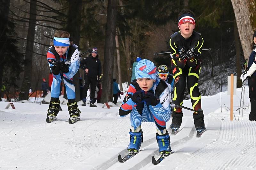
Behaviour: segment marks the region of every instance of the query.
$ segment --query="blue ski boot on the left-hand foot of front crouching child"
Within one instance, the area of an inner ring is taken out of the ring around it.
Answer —
[[[132,132],[132,129],[130,129],[129,132],[130,135],[130,144],[127,147],[127,150],[130,153],[137,153],[140,149],[140,145],[143,142],[143,131],[140,129],[139,132]]]

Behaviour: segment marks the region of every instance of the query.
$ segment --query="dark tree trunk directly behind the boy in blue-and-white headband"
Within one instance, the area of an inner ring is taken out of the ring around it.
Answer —
[[[81,28],[81,12],[82,12],[82,1],[73,0],[69,3],[68,10],[68,25],[67,31],[70,33],[71,41],[79,46],[80,43],[80,28]],[[73,83],[76,89],[76,101],[80,101],[80,88],[79,88],[79,71],[73,77]]]

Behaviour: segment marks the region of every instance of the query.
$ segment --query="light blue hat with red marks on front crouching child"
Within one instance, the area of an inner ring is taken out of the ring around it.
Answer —
[[[150,78],[156,80],[156,66],[152,61],[140,60],[135,67],[135,77],[139,78]]]

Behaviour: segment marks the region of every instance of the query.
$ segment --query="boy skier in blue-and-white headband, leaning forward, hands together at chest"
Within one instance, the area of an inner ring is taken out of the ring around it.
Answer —
[[[68,97],[68,112],[72,119],[80,116],[80,110],[76,103],[75,86],[73,76],[79,69],[79,51],[78,47],[69,42],[70,34],[66,31],[57,31],[54,34],[53,42],[47,53],[49,67],[53,73],[52,92],[47,116],[54,118],[59,113],[60,101],[60,83],[63,78]]]

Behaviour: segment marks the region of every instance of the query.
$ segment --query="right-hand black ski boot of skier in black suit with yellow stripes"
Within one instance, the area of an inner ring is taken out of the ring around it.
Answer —
[[[196,137],[201,137],[202,133],[206,130],[204,124],[204,113],[201,109],[198,109],[197,111],[197,114],[193,113],[193,118],[196,127]]]

